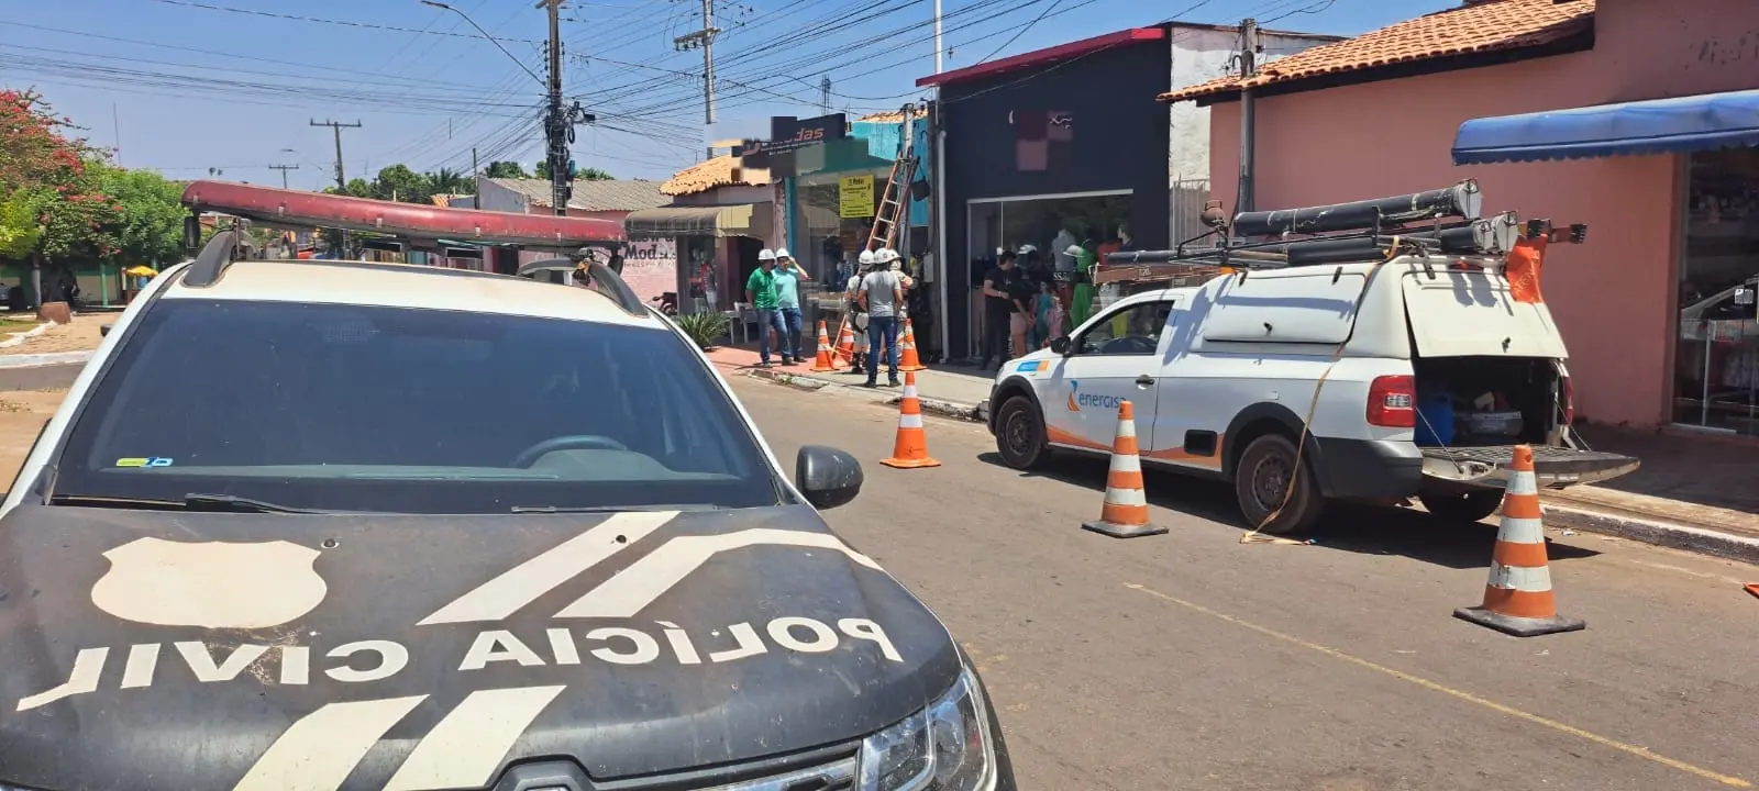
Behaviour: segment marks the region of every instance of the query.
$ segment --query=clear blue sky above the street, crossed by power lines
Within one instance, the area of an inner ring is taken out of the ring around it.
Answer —
[[[545,14],[533,0],[450,0],[542,74]],[[1254,16],[1281,30],[1351,35],[1458,0],[943,0],[946,69],[1177,14]],[[1187,11],[1189,9],[1189,11]],[[563,11],[563,90],[596,127],[582,167],[670,176],[702,158],[702,53],[672,39],[702,25],[700,0],[577,0]],[[897,109],[934,70],[932,0],[716,0],[719,135],[762,134],[772,114]],[[127,167],[169,178],[297,188],[334,179],[343,130],[348,178],[405,162],[470,172],[544,156],[544,88],[457,14],[419,0],[53,0],[0,4],[0,83],[35,86]],[[120,135],[118,135],[120,128]],[[292,151],[283,151],[292,149]]]

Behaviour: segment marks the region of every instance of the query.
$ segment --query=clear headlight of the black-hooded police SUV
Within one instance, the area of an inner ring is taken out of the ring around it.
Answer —
[[[982,791],[996,782],[989,701],[971,670],[939,700],[862,742],[860,791]]]

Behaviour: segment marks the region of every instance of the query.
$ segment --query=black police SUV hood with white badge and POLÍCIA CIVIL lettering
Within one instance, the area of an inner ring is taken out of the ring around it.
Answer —
[[[0,786],[484,787],[855,740],[946,629],[807,506],[0,519]]]

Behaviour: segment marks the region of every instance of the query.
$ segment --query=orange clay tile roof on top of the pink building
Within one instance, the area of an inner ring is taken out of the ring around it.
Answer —
[[[1265,63],[1256,77],[1217,77],[1171,93],[1161,102],[1235,93],[1242,86],[1293,83],[1323,74],[1551,44],[1594,25],[1595,0],[1479,0],[1458,9],[1405,19],[1354,39],[1326,44]]]

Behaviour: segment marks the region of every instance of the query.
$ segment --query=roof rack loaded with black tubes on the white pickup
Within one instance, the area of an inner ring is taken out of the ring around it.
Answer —
[[[1187,264],[1184,269],[1282,269],[1383,260],[1398,251],[1414,255],[1506,255],[1520,239],[1546,237],[1581,244],[1588,227],[1569,225],[1567,236],[1550,220],[1522,221],[1513,211],[1481,216],[1478,181],[1441,190],[1302,209],[1244,211],[1230,225],[1219,204],[1205,209],[1210,230],[1180,241],[1175,250],[1110,253],[1106,264]],[[1295,237],[1300,236],[1300,237]],[[1215,237],[1212,246],[1194,243]],[[1258,241],[1251,237],[1259,237]],[[1295,237],[1295,239],[1291,239]],[[1140,272],[1149,274],[1149,272]],[[1196,274],[1196,272],[1164,272]],[[1099,279],[1099,278],[1096,278]],[[1105,278],[1157,279],[1157,278]]]

